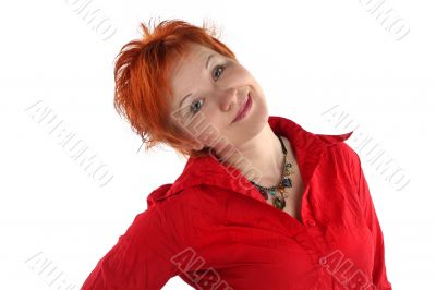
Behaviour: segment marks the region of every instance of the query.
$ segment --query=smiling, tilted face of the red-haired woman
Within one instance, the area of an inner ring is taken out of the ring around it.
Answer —
[[[227,153],[253,138],[268,122],[259,84],[238,61],[215,50],[192,44],[170,80],[174,96],[172,122],[194,141],[191,148],[199,150],[207,146]],[[247,96],[250,110],[233,122]]]

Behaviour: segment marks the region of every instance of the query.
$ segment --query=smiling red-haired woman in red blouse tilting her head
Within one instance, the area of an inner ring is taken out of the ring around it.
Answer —
[[[358,154],[268,116],[210,29],[164,21],[116,62],[116,108],[150,148],[189,157],[82,289],[391,289]]]

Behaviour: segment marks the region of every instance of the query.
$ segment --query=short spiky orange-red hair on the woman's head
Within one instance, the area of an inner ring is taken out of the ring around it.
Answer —
[[[194,150],[186,146],[190,138],[170,118],[173,99],[169,77],[175,62],[186,56],[194,43],[235,60],[234,53],[216,38],[210,29],[181,20],[162,21],[153,29],[140,23],[143,36],[121,48],[114,64],[114,107],[128,119],[132,130],[145,144],[145,149],[158,143],[167,144],[184,157],[204,156],[208,148]]]

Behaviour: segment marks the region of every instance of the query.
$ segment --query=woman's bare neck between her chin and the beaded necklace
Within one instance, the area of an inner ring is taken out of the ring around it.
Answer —
[[[225,165],[233,166],[249,180],[266,188],[280,182],[283,152],[269,124],[265,125],[259,134],[241,144],[235,152],[238,154],[225,157]]]

